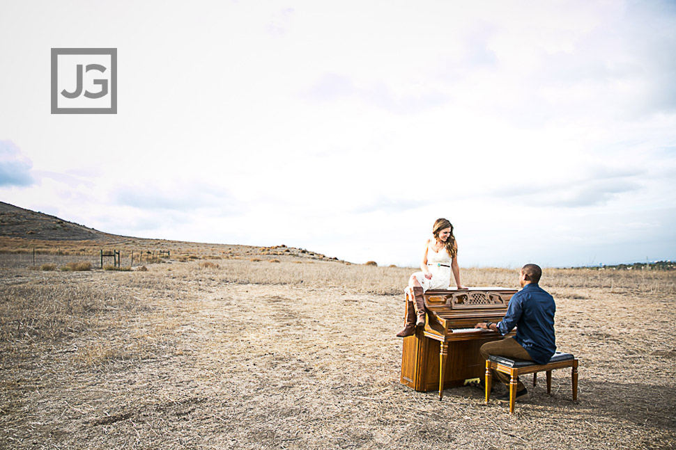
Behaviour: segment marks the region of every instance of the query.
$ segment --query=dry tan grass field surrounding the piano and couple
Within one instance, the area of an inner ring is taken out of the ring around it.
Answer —
[[[553,396],[541,380],[510,416],[471,387],[438,401],[399,384],[411,269],[183,246],[123,272],[0,254],[0,448],[676,447],[674,272],[546,270],[558,346],[581,361],[578,402],[555,371]]]

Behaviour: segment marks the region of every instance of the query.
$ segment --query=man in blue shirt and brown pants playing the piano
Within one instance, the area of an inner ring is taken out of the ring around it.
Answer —
[[[501,341],[486,342],[479,351],[484,360],[490,355],[504,356],[510,359],[533,361],[546,364],[556,350],[554,337],[554,298],[538,286],[542,269],[536,264],[526,264],[521,268],[518,284],[523,289],[509,300],[507,314],[498,323],[477,323],[475,328],[484,328],[506,335],[516,326],[516,336]],[[509,376],[493,370],[493,380],[498,377],[509,387]],[[528,394],[521,380],[516,385],[516,399]],[[500,401],[509,401],[507,394],[496,396]]]

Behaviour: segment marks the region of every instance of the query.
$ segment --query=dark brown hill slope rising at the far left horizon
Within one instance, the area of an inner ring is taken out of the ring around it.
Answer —
[[[0,237],[45,241],[109,241],[118,236],[0,202]]]

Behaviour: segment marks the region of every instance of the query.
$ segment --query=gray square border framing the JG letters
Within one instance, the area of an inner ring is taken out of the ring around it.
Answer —
[[[109,55],[110,56],[110,107],[109,108],[59,108],[58,58],[59,55]],[[117,114],[117,49],[64,49],[52,48],[52,114]]]

